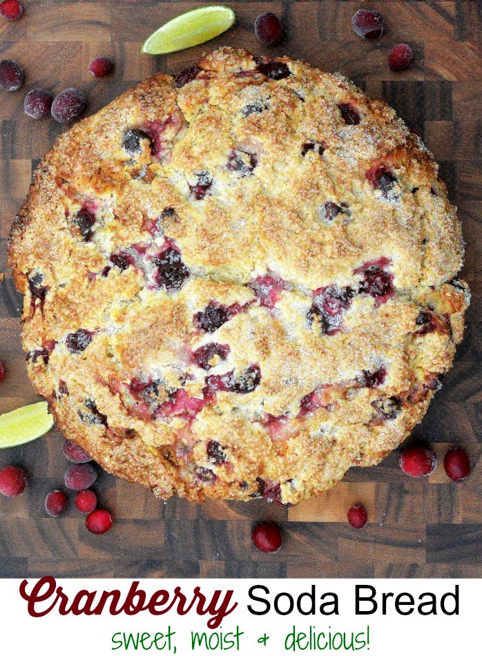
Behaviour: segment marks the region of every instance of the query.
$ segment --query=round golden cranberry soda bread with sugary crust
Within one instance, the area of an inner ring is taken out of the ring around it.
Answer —
[[[194,501],[296,503],[383,459],[452,364],[462,258],[392,109],[231,48],[59,137],[10,235],[59,428]]]

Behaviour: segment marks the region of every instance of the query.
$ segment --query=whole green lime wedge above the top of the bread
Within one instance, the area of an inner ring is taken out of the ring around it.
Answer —
[[[234,23],[234,12],[229,7],[200,7],[168,21],[155,30],[144,42],[142,52],[164,55],[184,48],[204,44],[218,37]]]

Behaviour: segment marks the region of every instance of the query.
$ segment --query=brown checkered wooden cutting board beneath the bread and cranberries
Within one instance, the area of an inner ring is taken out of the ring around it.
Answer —
[[[22,465],[28,490],[0,499],[0,576],[53,574],[63,577],[481,577],[482,576],[482,9],[477,0],[383,1],[387,33],[364,41],[350,28],[360,2],[300,1],[227,3],[235,27],[204,46],[162,57],[140,55],[144,39],[171,17],[200,6],[190,2],[142,0],[24,0],[26,13],[0,22],[1,57],[26,70],[26,84],[0,93],[0,359],[6,364],[0,412],[35,401],[20,343],[21,297],[6,264],[10,223],[28,191],[32,171],[64,126],[35,121],[23,113],[30,88],[58,93],[77,86],[93,113],[146,75],[189,66],[211,46],[244,46],[260,54],[253,22],[272,10],[288,30],[271,54],[306,59],[354,79],[372,97],[392,104],[416,129],[441,164],[441,175],[459,206],[467,257],[464,278],[472,288],[465,340],[454,368],[436,394],[413,437],[426,438],[436,452],[461,444],[473,473],[451,483],[443,467],[422,481],[398,468],[394,452],[378,467],[349,470],[336,488],[295,508],[265,501],[195,505],[163,503],[138,485],[102,472],[95,490],[115,513],[115,526],[102,536],[86,530],[73,507],[51,519],[44,498],[63,487],[66,460],[57,431],[24,447],[0,451],[0,466]],[[0,19],[1,20],[1,19]],[[390,73],[389,49],[412,44],[414,66]],[[88,61],[115,59],[115,74],[94,80]],[[369,523],[356,532],[346,521],[351,503],[361,501]],[[274,519],[285,541],[276,555],[251,547],[253,521]]]

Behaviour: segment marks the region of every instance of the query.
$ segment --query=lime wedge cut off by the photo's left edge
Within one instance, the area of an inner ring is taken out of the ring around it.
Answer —
[[[54,420],[46,401],[0,414],[0,449],[36,440],[52,428]]]

